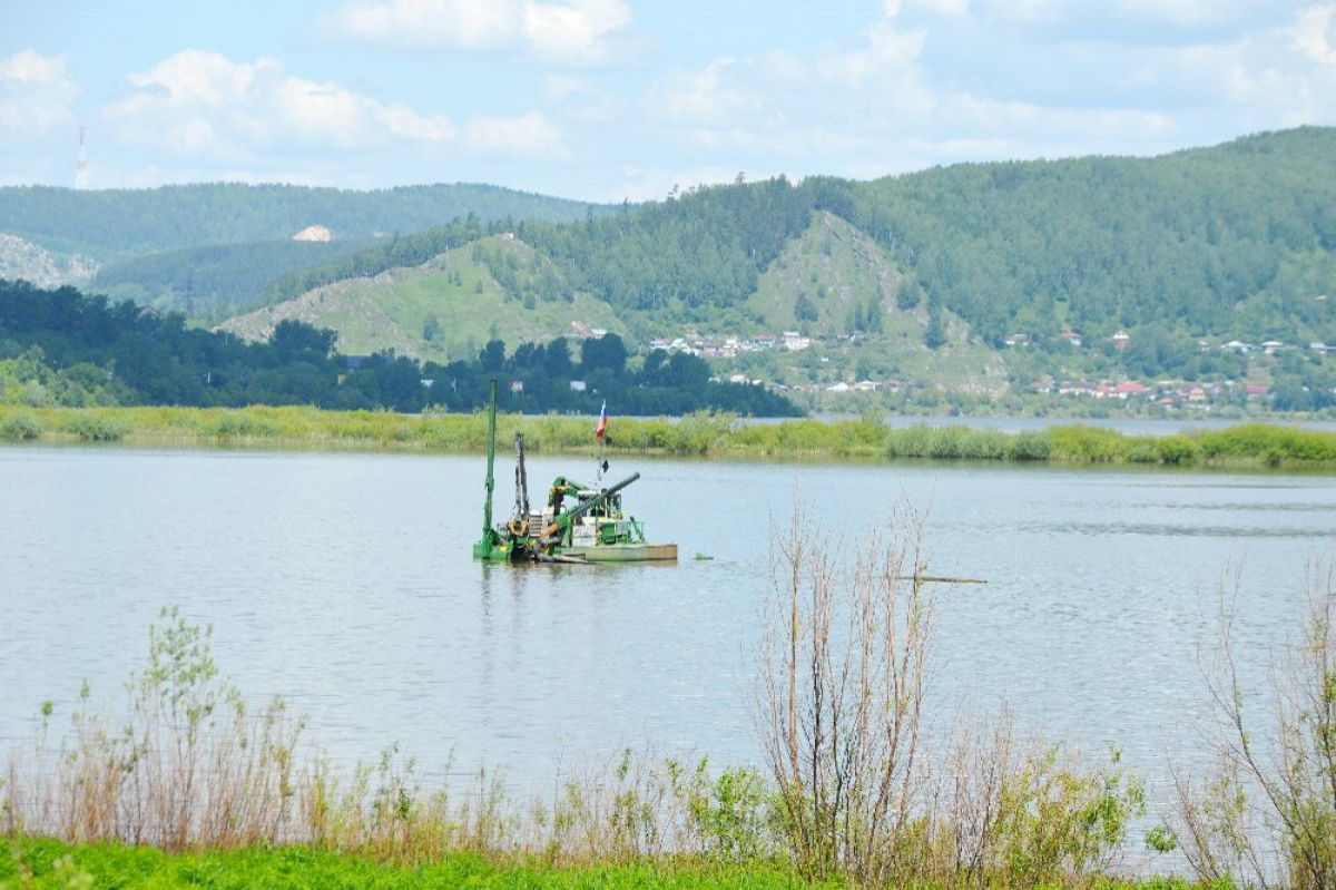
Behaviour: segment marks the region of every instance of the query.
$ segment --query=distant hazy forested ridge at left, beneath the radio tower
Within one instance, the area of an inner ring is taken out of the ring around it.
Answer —
[[[337,241],[421,231],[456,218],[584,219],[605,206],[497,186],[436,184],[347,191],[208,183],[143,190],[0,188],[0,231],[99,262],[246,242],[323,226]]]

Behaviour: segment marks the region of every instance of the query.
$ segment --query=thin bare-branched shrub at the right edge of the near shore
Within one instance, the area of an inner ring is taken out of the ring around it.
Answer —
[[[1233,568],[1220,585],[1216,639],[1200,657],[1214,704],[1214,770],[1205,779],[1174,771],[1174,837],[1208,881],[1336,890],[1336,564],[1308,564],[1308,613],[1272,668],[1268,716],[1240,676],[1240,587]]]

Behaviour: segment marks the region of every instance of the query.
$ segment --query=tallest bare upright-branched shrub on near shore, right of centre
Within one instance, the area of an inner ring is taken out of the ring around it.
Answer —
[[[875,543],[846,572],[795,516],[775,540],[780,599],[760,659],[759,720],[799,869],[886,883],[900,871],[915,803],[933,603],[919,581],[921,525]]]

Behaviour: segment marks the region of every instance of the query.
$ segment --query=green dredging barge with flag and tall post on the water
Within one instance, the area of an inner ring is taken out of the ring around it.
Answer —
[[[648,563],[676,561],[676,544],[651,544],[644,525],[621,506],[621,490],[640,478],[632,473],[608,488],[589,486],[558,476],[538,508],[529,505],[524,466],[524,434],[514,434],[514,512],[505,523],[492,521],[493,469],[497,438],[497,382],[492,381],[488,408],[486,504],[482,537],[473,544],[474,559],[490,563]],[[601,481],[607,461],[599,462]]]

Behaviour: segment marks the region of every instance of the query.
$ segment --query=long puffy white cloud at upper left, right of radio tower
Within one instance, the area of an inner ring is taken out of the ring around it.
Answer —
[[[243,158],[275,146],[365,148],[456,138],[444,116],[289,75],[273,59],[232,61],[186,49],[130,83],[135,91],[107,107],[108,120],[131,142],[180,155]]]

